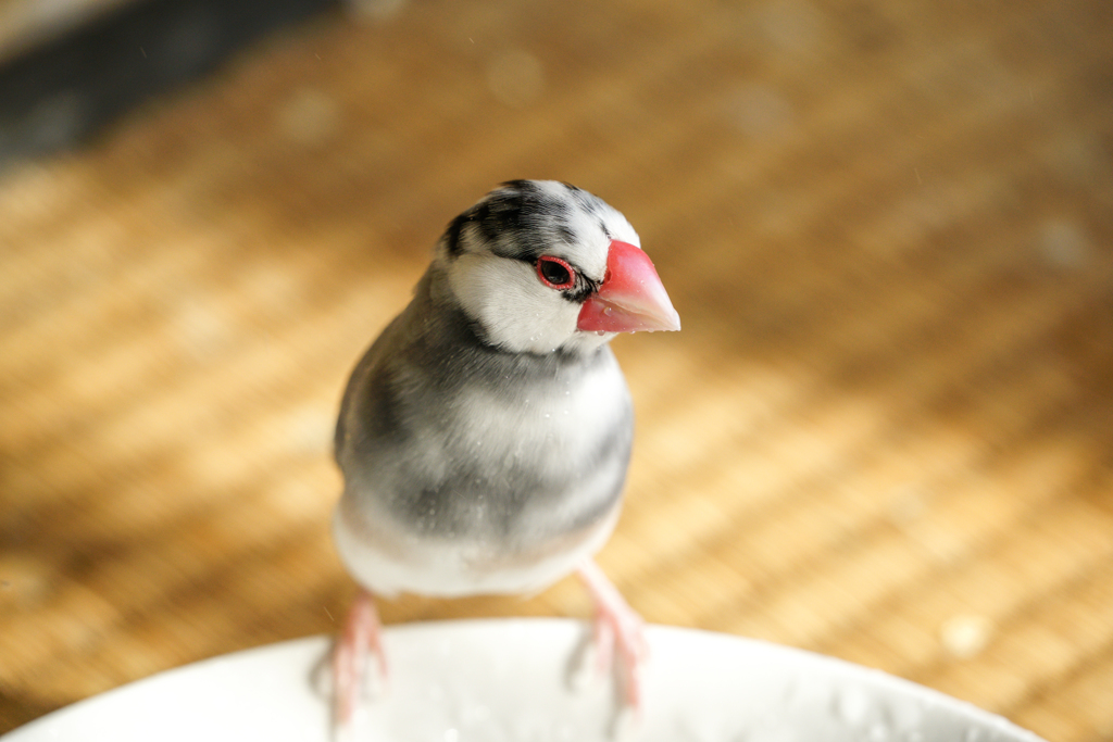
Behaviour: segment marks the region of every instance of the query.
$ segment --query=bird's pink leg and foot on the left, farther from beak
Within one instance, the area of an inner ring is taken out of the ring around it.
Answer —
[[[375,598],[364,590],[352,604],[333,650],[333,723],[338,730],[346,728],[355,713],[366,681],[367,655],[371,652],[377,656],[380,673],[385,677],[382,625]]]

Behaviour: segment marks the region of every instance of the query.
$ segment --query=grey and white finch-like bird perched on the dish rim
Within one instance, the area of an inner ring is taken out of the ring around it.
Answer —
[[[638,233],[587,190],[512,180],[449,222],[341,403],[333,537],[361,590],[332,654],[337,728],[370,660],[386,674],[376,598],[528,595],[573,572],[595,606],[595,664],[640,705],[643,622],[593,561],[633,439],[609,343],[679,329]]]

